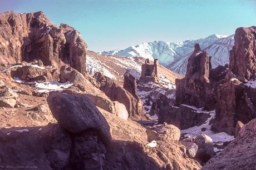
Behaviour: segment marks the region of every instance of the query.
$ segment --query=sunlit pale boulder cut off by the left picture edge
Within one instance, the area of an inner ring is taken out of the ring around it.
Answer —
[[[0,91],[0,107],[14,107],[18,94],[12,89],[5,89]]]

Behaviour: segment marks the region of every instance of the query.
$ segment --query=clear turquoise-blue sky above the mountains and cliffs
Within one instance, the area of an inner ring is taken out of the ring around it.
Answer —
[[[43,11],[77,29],[92,51],[233,34],[256,26],[256,0],[0,0],[0,12]]]

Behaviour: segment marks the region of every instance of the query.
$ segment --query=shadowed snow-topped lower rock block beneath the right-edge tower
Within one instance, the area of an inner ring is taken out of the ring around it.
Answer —
[[[244,86],[238,79],[230,78],[216,91],[216,120],[214,131],[235,134],[237,121],[248,123],[256,118],[256,89]]]

